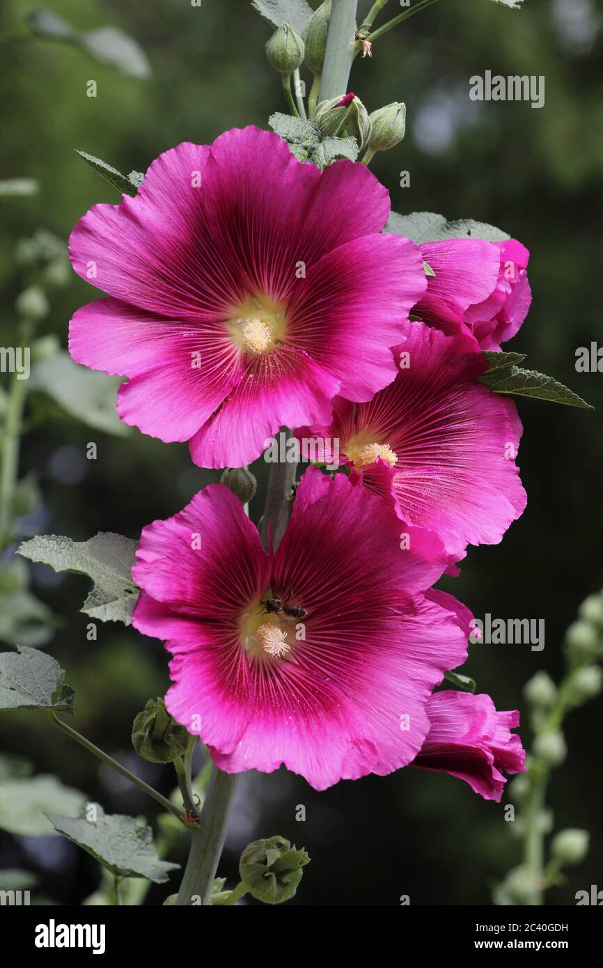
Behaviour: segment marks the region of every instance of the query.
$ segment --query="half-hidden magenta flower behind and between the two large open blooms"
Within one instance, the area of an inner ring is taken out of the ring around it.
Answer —
[[[397,378],[369,403],[338,398],[330,426],[298,429],[301,451],[339,441],[352,482],[436,531],[458,561],[467,544],[500,541],[526,506],[514,460],[522,424],[510,400],[475,382],[487,364],[467,335],[410,322],[395,357]]]

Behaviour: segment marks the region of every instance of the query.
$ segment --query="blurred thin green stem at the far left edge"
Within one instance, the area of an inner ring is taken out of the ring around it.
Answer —
[[[26,347],[30,342],[32,325],[22,320],[19,326],[17,345]],[[11,375],[8,402],[2,439],[0,440],[0,551],[10,544],[13,536],[13,506],[15,488],[18,480],[18,455],[22,429],[23,409],[27,397],[27,380]]]

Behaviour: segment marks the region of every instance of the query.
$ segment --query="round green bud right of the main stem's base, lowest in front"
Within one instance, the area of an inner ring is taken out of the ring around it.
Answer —
[[[297,890],[302,867],[310,861],[303,848],[284,837],[254,840],[241,854],[239,874],[247,891],[264,904],[281,904]]]

